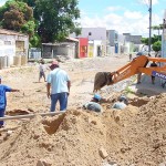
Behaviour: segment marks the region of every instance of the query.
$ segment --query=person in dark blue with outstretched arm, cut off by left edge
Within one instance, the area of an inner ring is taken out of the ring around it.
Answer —
[[[6,106],[7,106],[7,96],[6,92],[20,92],[20,90],[11,89],[7,85],[1,84],[2,77],[0,76],[0,117],[4,116]],[[3,127],[3,121],[0,121],[0,128]]]

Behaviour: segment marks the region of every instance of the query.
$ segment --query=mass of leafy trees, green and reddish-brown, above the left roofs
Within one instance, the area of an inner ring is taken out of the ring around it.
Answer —
[[[27,33],[30,46],[81,33],[77,0],[8,0],[0,7],[0,25]]]

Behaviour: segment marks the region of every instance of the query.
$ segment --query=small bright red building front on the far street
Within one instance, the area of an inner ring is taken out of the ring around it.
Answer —
[[[87,38],[79,38],[79,41],[80,41],[79,58],[87,58],[89,39]]]

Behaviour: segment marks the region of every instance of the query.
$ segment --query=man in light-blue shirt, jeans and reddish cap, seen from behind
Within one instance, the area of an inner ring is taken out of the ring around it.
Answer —
[[[50,111],[55,111],[58,101],[60,102],[60,111],[65,111],[68,106],[71,81],[68,73],[59,68],[58,61],[54,60],[50,65],[50,69],[51,72],[49,73],[46,80],[48,97],[51,97]]]

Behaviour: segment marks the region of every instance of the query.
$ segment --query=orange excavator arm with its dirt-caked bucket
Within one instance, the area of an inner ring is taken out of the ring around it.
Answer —
[[[158,63],[158,65],[154,68],[147,66],[151,61]],[[138,73],[160,77],[166,83],[166,65],[164,63],[166,63],[166,59],[139,55],[115,72],[97,72],[94,79],[93,92],[97,92],[105,85],[115,84]]]

